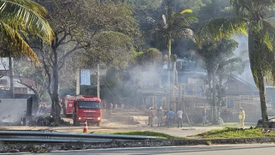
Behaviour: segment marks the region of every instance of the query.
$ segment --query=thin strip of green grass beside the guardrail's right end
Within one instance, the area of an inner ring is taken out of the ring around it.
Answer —
[[[111,133],[114,135],[141,135],[141,136],[154,136],[154,137],[163,137],[169,140],[180,140],[185,139],[183,137],[176,137],[172,135],[168,135],[162,132],[153,132],[153,131],[127,131],[127,132],[114,132]]]

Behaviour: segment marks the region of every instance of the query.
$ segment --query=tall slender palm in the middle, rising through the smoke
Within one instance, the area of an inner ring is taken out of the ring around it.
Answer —
[[[191,37],[193,30],[190,30],[190,25],[197,21],[197,17],[193,15],[193,11],[185,9],[183,11],[173,11],[173,1],[167,0],[165,3],[165,15],[162,15],[162,23],[157,27],[157,33],[166,39],[167,44],[167,64],[168,64],[168,81],[167,89],[167,104],[170,109],[170,92],[171,92],[171,44],[172,39]]]

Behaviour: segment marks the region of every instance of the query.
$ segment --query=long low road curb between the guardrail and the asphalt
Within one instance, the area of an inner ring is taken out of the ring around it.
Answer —
[[[188,140],[141,140],[141,141],[112,141],[112,142],[71,142],[49,144],[2,144],[1,153],[35,152],[44,153],[59,150],[78,149],[109,149],[125,147],[169,147],[169,146],[195,146],[211,144],[262,144],[275,142],[275,137],[238,138],[238,139],[188,139]]]

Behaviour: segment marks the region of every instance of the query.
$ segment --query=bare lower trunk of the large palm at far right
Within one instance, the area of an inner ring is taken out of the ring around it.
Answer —
[[[262,110],[262,128],[267,129],[269,128],[269,126],[267,124],[267,120],[268,120],[267,102],[265,99],[264,76],[262,74],[262,68],[257,69],[257,74],[258,74],[258,85],[259,85],[259,99],[261,101],[261,110]]]

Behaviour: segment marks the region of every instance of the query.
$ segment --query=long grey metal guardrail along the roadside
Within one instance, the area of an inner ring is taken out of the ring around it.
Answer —
[[[111,142],[113,140],[156,140],[159,137],[108,135],[49,131],[0,130],[0,142]]]

